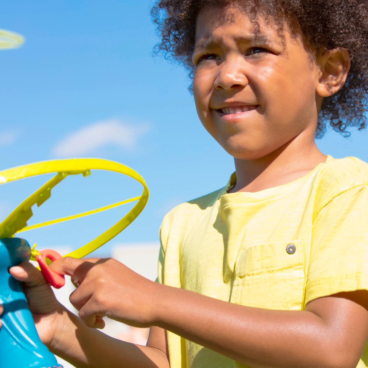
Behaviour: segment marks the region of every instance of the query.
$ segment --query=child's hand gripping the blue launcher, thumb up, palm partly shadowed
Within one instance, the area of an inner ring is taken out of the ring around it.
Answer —
[[[32,263],[22,262],[19,266],[11,267],[9,272],[14,279],[23,282],[24,294],[38,335],[46,346],[50,346],[64,307],[55,298],[42,273]],[[3,310],[3,306],[0,305],[0,315]]]

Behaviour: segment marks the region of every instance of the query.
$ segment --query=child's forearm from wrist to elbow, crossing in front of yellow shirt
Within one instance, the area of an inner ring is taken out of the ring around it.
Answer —
[[[328,325],[312,312],[245,307],[175,287],[160,289],[159,327],[245,365],[332,367],[339,362]]]

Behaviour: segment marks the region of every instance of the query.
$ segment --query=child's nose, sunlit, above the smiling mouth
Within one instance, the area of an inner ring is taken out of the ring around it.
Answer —
[[[219,65],[218,74],[213,83],[215,89],[231,89],[245,87],[248,79],[241,63],[232,60],[224,61]]]

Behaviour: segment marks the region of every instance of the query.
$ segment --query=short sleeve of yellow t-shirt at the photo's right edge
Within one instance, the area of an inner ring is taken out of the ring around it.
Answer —
[[[325,205],[312,228],[305,305],[343,291],[368,290],[368,185]]]

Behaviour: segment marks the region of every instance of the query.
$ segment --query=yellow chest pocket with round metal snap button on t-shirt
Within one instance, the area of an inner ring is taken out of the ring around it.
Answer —
[[[304,278],[300,240],[257,244],[239,257],[231,302],[255,308],[300,310]]]

